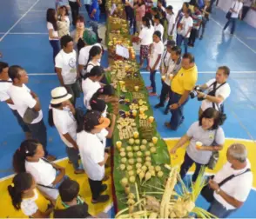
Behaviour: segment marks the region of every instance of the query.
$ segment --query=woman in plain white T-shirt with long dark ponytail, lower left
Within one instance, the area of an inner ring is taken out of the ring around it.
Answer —
[[[37,183],[37,189],[57,200],[60,183],[64,181],[65,169],[44,158],[44,148],[37,140],[25,140],[13,155],[16,173],[29,172]]]

